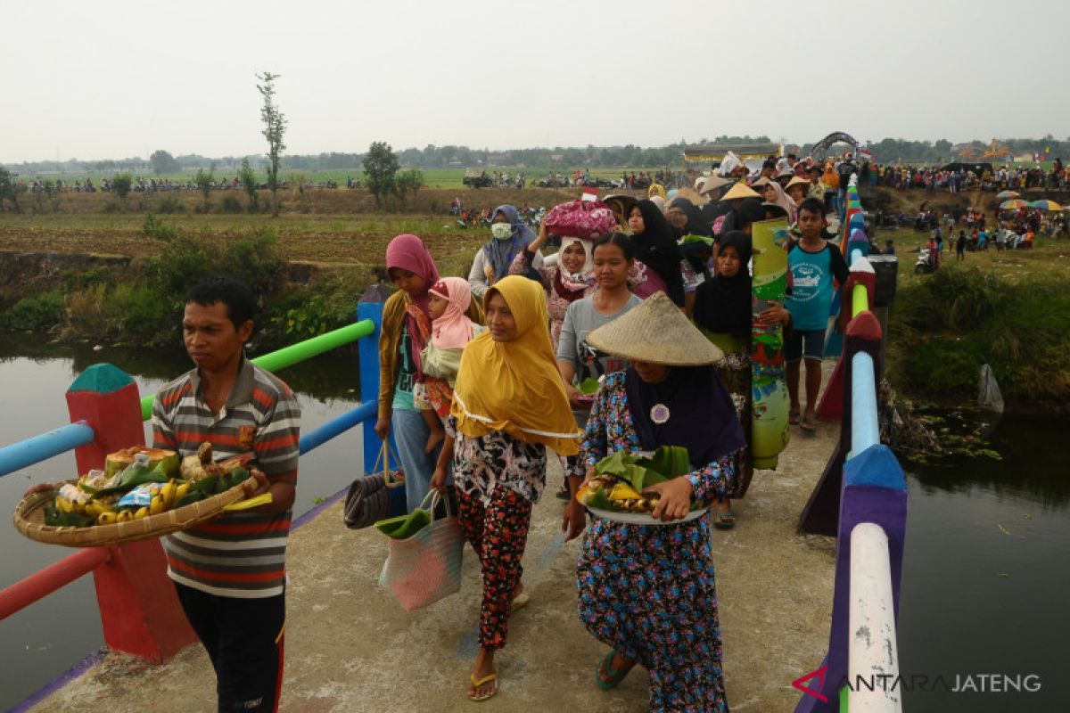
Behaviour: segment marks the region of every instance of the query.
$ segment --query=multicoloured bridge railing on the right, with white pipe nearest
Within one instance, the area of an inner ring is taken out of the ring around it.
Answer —
[[[860,208],[857,192],[853,200]],[[865,233],[855,236],[868,245]],[[852,243],[844,241],[845,246]],[[838,538],[828,654],[812,677],[816,686],[804,688],[796,713],[902,710],[896,619],[906,485],[898,460],[881,444],[875,275],[865,250],[849,249],[852,319],[837,365],[842,378],[837,394],[842,399],[840,439],[799,524],[800,530]]]

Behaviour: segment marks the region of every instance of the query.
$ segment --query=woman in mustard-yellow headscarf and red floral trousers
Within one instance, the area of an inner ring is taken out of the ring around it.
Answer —
[[[487,331],[464,347],[446,441],[431,486],[445,489],[453,459],[454,490],[465,539],[483,568],[479,654],[468,696],[498,692],[494,652],[505,646],[509,614],[528,603],[520,576],[532,506],[546,486],[546,447],[568,458],[575,495],[583,477],[576,428],[547,328],[542,286],[513,275],[484,295]],[[582,513],[566,511],[575,537]],[[574,520],[578,522],[572,522]]]

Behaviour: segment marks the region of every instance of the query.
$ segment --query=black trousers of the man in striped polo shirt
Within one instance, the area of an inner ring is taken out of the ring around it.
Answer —
[[[236,599],[174,584],[186,618],[212,660],[219,713],[278,710],[286,594]]]

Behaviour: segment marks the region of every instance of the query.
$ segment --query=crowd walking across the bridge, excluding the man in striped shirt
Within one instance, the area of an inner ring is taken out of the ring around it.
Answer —
[[[750,185],[703,176],[694,190],[611,197],[616,230],[561,236],[546,254],[545,224],[536,232],[501,205],[468,279],[442,277],[415,235],[389,244],[397,291],[383,306],[376,432],[397,443],[410,508],[432,489],[456,497],[479,559],[472,700],[496,694],[510,614],[530,602],[521,560],[552,451],[562,528],[583,536],[579,618],[609,649],[596,684],[612,688],[639,664],[651,710],[728,710],[708,528],[736,525],[732,500],[753,475],[753,223],[784,218],[796,231],[791,295],[756,319],[785,330],[790,422],[802,432],[816,430],[829,307],[846,282],[824,189],[819,199],[809,179],[778,175],[790,166],[769,168]],[[590,379],[593,397],[580,388]],[[576,494],[600,460],[670,445],[687,449],[691,470],[648,493],[661,524],[588,521]],[[708,518],[679,522],[694,503]]]

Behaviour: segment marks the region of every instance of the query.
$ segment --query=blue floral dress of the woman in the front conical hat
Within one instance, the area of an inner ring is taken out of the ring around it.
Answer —
[[[603,381],[581,458],[591,466],[620,450],[640,450],[624,372]],[[728,454],[689,474],[696,499],[729,492],[733,463]],[[648,671],[651,711],[728,712],[708,518],[647,526],[593,517],[577,588],[587,631]]]

